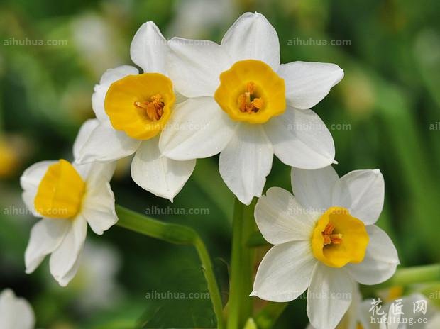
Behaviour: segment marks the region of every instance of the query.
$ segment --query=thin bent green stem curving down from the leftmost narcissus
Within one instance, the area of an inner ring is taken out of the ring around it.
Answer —
[[[209,296],[211,297],[212,307],[216,315],[217,328],[224,329],[223,306],[219,286],[217,286],[207,248],[197,232],[184,225],[157,221],[118,205],[116,205],[116,213],[119,217],[117,225],[122,228],[147,235],[151,238],[157,238],[177,245],[192,245],[196,248],[204,269],[204,277],[207,280]]]

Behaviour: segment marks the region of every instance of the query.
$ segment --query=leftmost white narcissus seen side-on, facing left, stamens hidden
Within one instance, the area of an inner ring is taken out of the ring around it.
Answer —
[[[74,155],[96,127],[87,121],[79,130]],[[40,219],[31,230],[25,252],[26,273],[50,255],[50,274],[60,286],[75,277],[87,235],[87,224],[101,235],[118,221],[110,180],[114,162],[75,165],[66,160],[43,161],[21,176],[23,201]]]

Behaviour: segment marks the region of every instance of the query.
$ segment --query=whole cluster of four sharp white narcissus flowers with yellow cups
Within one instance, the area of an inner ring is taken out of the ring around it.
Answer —
[[[149,21],[130,52],[142,72],[124,65],[103,74],[92,96],[96,118],[79,131],[74,162],[39,162],[21,177],[23,200],[42,218],[31,231],[27,273],[50,255],[60,285],[75,277],[87,225],[101,235],[117,221],[109,181],[114,162],[133,154],[133,181],[170,201],[198,158],[219,154],[221,177],[238,200],[260,198],[255,221],[275,245],[251,295],[292,301],[308,289],[314,328],[338,325],[356,282],[379,284],[395,273],[397,251],[375,225],[382,174],[339,178],[334,141],[310,109],[343,78],[338,65],[280,64],[277,33],[260,13],[244,13],[220,44],[165,40]],[[262,196],[274,155],[293,167],[295,196],[279,188]]]

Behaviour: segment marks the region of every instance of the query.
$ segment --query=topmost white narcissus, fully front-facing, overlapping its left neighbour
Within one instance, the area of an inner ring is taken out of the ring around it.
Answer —
[[[220,152],[219,169],[242,202],[261,196],[273,155],[292,167],[318,169],[334,161],[329,130],[309,108],[343,77],[338,65],[280,65],[280,43],[260,13],[244,13],[221,44],[172,38],[167,72],[187,101],[160,135],[175,160]],[[199,129],[177,132],[175,127]]]

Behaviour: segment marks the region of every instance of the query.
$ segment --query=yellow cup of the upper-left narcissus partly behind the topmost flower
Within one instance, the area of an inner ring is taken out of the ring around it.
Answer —
[[[159,73],[128,75],[111,84],[104,108],[116,130],[148,140],[163,130],[170,118],[175,94],[172,82]]]

